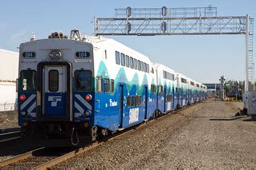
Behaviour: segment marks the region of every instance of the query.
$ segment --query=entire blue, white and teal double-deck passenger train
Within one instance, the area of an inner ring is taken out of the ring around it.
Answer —
[[[18,125],[38,144],[78,146],[206,98],[205,85],[79,30],[19,50]]]

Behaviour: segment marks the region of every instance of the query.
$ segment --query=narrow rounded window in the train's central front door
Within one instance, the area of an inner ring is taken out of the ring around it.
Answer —
[[[51,69],[48,73],[48,88],[50,92],[58,92],[59,90],[59,71],[57,69]]]

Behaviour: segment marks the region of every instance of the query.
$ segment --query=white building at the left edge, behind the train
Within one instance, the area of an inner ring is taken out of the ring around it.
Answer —
[[[0,112],[15,109],[18,53],[0,49]]]

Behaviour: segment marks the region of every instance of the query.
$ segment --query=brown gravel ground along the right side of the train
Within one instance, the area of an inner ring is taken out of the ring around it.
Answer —
[[[128,132],[53,169],[255,168],[256,122],[239,102],[204,101]]]

